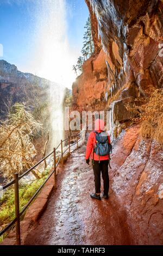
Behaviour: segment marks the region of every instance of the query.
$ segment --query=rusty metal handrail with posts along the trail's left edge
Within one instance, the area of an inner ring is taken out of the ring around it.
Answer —
[[[60,163],[60,161],[62,161],[62,166],[64,164],[64,154],[66,153],[66,151],[69,149],[69,152],[72,153],[70,151],[70,148],[73,146],[73,145],[76,145],[77,144],[77,149],[78,149],[78,142],[80,142],[82,140],[82,138],[78,139],[78,136],[79,135],[82,135],[83,132],[86,132],[85,130],[77,133],[76,135],[74,136],[68,136],[66,139],[64,139],[64,141],[61,140],[60,144],[58,145],[57,148],[54,148],[54,150],[52,151],[52,153],[48,154],[47,156],[43,157],[43,159],[41,159],[39,162],[37,162],[33,167],[29,168],[26,172],[24,172],[22,175],[18,176],[18,175],[15,175],[15,179],[10,181],[8,184],[4,185],[1,187],[1,190],[4,190],[6,188],[8,188],[9,186],[11,185],[14,185],[15,184],[15,192],[18,192],[18,181],[21,180],[24,176],[26,176],[28,173],[30,173],[33,169],[35,169],[40,163],[42,163],[44,160],[46,160],[49,156],[51,156],[52,154],[55,153],[55,150],[57,150],[60,145],[61,145],[61,155],[59,157],[59,160],[57,162],[57,164],[55,163],[54,161],[54,169],[53,171],[51,172],[51,174],[49,174],[49,176],[47,177],[47,179],[43,182],[43,184],[38,188],[38,190],[35,192],[35,194],[33,195],[33,197],[29,200],[29,202],[24,206],[24,208],[22,209],[22,211],[20,212],[20,209],[19,209],[19,198],[16,198],[15,196],[15,212],[17,213],[18,212],[18,215],[17,217],[14,218],[14,220],[12,220],[3,230],[0,231],[0,236],[3,235],[10,227],[12,227],[12,225],[15,224],[16,222],[16,242],[17,242],[17,245],[20,245],[21,244],[21,239],[20,239],[20,216],[24,213],[24,211],[26,211],[26,209],[28,208],[28,206],[32,203],[32,201],[34,200],[34,198],[37,196],[37,194],[40,192],[40,190],[42,189],[42,187],[46,184],[46,182],[49,180],[49,178],[51,178],[51,176],[54,174],[55,177],[54,177],[54,186],[55,188],[57,187],[56,185],[56,169],[58,167],[58,164]],[[77,142],[73,143],[70,145],[70,138],[72,137],[76,137],[77,138]],[[68,139],[68,148],[63,152],[62,151],[62,142],[65,142],[66,140]],[[54,155],[55,156],[55,155]],[[56,157],[55,157],[56,159]],[[17,178],[16,178],[17,177]],[[16,191],[17,190],[17,191]],[[15,193],[16,195],[16,193]],[[18,195],[17,195],[18,196]],[[18,202],[17,202],[18,201]],[[18,233],[18,234],[17,234]]]

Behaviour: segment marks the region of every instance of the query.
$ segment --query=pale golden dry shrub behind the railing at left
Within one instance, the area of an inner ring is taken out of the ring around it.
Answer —
[[[41,129],[30,109],[16,103],[5,121],[0,124],[0,172],[8,180],[34,164],[36,150],[32,142]]]

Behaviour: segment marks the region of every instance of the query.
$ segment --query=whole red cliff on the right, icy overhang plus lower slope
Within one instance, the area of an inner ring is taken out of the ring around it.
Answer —
[[[126,111],[126,103],[162,87],[163,1],[86,3],[96,51],[73,84],[73,105],[80,110],[110,109],[110,127],[118,129],[134,116]],[[129,127],[114,141],[111,165],[111,189],[127,211],[134,243],[163,244],[161,146],[140,138],[139,125]]]

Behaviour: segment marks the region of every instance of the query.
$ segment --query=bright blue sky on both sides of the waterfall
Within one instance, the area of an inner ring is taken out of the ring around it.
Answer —
[[[52,0],[0,0],[0,44],[3,45],[3,57],[1,59],[15,64],[21,71],[46,76],[46,72],[39,73],[41,68],[36,68],[37,64],[34,60],[36,51],[37,56],[39,55],[36,42],[39,44],[37,38],[39,37],[43,24],[41,23],[42,13],[39,13],[39,11],[41,8],[40,5],[42,4],[44,6],[45,2],[49,3],[49,7],[54,3],[53,9],[55,9],[55,1],[57,0],[53,0],[53,2]],[[82,49],[84,26],[89,16],[89,11],[84,0],[58,1],[61,4],[64,3],[62,4],[64,5],[63,8],[58,7],[58,10],[62,13],[58,22],[59,26],[62,23],[60,29],[62,29],[62,33],[66,33],[67,44],[71,48],[71,53],[67,53],[67,58],[68,54],[70,54],[73,56],[75,62]],[[46,5],[43,8],[45,9],[45,13],[49,10]],[[62,22],[61,19],[64,20],[64,18],[65,21]],[[46,19],[48,20],[48,15]],[[65,30],[64,26],[66,27]],[[52,29],[53,27],[51,31]],[[46,29],[45,37],[47,37],[47,34],[48,29]],[[40,54],[42,51],[43,48],[40,48]],[[33,63],[31,62],[32,59]],[[56,59],[56,62],[58,62],[58,59]],[[50,77],[47,75],[45,78]],[[53,80],[55,80],[55,76]]]

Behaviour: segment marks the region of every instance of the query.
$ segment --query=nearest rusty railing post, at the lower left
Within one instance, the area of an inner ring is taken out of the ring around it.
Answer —
[[[18,173],[15,173],[14,177],[15,177],[15,216],[17,218],[17,221],[16,221],[16,245],[21,245]]]

